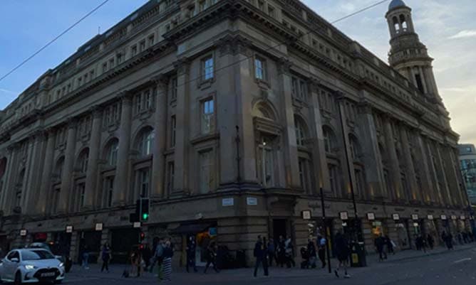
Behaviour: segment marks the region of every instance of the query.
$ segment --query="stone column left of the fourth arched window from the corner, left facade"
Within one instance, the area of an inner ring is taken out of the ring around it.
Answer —
[[[55,153],[55,130],[48,129],[46,131],[48,141],[46,142],[46,154],[43,161],[43,171],[41,172],[41,185],[39,199],[36,203],[36,209],[39,214],[46,214],[46,207],[49,204],[47,198],[48,193],[51,192],[51,171],[53,169],[53,156]]]

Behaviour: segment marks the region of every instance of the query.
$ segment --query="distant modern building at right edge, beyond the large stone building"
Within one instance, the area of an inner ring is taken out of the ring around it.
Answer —
[[[460,168],[470,203],[476,206],[476,148],[474,144],[459,144]]]

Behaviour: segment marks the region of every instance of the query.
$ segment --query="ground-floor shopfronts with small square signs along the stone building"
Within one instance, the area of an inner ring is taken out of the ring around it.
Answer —
[[[80,253],[87,245],[90,262],[98,260],[101,244],[109,242],[112,262],[124,263],[143,232],[143,243],[151,248],[160,237],[170,238],[175,245],[174,262],[185,264],[187,239],[192,236],[197,240],[197,264],[205,264],[208,244],[217,242],[222,262],[227,267],[241,267],[251,264],[258,235],[274,240],[291,237],[299,259],[297,253],[309,238],[326,235],[332,245],[336,232],[351,233],[355,225],[361,226],[368,252],[373,252],[373,240],[379,234],[388,235],[398,249],[410,249],[415,248],[415,235],[430,234],[440,244],[443,231],[456,235],[470,229],[467,213],[457,209],[357,203],[356,223],[351,201],[326,199],[324,208],[325,220],[321,200],[315,196],[284,191],[215,193],[152,203],[150,219],[140,228],[129,222],[133,207],[48,219],[4,217],[0,242],[5,249],[33,241],[49,242],[58,254],[67,254],[73,261],[81,259]],[[344,216],[348,220],[343,220]]]

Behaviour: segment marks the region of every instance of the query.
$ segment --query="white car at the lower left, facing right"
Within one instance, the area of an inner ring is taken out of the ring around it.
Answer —
[[[46,249],[14,249],[0,263],[0,282],[15,285],[37,282],[61,283],[64,264]]]

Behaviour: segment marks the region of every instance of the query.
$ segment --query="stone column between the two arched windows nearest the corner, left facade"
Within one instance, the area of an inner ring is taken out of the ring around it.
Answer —
[[[125,205],[128,197],[130,123],[132,121],[132,97],[125,91],[119,95],[122,100],[119,127],[118,163],[116,163],[113,190],[113,205]]]

